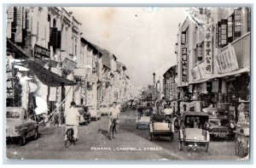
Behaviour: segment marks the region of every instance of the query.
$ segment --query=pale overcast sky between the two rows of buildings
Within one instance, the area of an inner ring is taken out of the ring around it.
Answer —
[[[176,62],[174,45],[186,8],[67,8],[82,23],[83,36],[125,64],[131,81],[147,86],[155,70]]]

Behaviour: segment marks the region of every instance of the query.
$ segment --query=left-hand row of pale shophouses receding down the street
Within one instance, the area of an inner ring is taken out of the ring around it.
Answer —
[[[33,109],[39,98],[58,113],[136,96],[125,64],[87,41],[66,8],[9,7],[6,26],[7,106]]]

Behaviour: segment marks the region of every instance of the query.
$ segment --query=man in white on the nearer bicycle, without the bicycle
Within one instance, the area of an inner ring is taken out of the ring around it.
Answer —
[[[73,138],[74,141],[78,141],[78,135],[79,135],[79,110],[75,109],[76,103],[71,102],[70,108],[65,111],[65,117],[66,117],[66,132],[67,129],[73,128]],[[65,141],[67,140],[67,135],[65,134]]]

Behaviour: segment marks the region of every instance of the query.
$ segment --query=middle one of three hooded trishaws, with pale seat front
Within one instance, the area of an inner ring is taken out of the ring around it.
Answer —
[[[173,140],[174,119],[168,115],[152,115],[149,123],[149,140],[153,137],[170,137]]]

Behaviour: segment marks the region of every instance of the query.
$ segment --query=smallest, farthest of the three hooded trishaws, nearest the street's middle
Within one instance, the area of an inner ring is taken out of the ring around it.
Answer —
[[[137,108],[137,129],[148,129],[150,116],[153,113],[152,107],[140,106]]]

